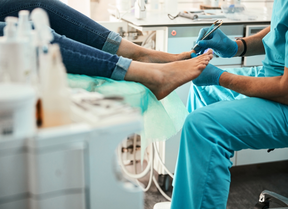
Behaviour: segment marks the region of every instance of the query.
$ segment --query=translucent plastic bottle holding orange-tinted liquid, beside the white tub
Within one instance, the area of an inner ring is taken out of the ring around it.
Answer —
[[[52,127],[71,123],[70,93],[66,81],[66,70],[57,44],[49,45],[47,68],[40,68],[43,124]]]

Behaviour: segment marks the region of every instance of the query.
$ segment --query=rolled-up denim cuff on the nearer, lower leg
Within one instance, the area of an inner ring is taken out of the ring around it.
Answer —
[[[128,59],[120,56],[118,62],[116,63],[116,67],[112,72],[111,79],[122,81],[126,75],[126,72],[132,62],[132,59]]]

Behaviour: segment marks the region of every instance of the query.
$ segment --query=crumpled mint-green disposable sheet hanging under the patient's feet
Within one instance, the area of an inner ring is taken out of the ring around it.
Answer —
[[[68,84],[71,88],[97,91],[105,96],[122,96],[125,103],[140,109],[144,123],[144,129],[139,133],[141,161],[149,144],[171,138],[180,131],[189,114],[175,91],[158,101],[148,88],[136,82],[68,74]]]

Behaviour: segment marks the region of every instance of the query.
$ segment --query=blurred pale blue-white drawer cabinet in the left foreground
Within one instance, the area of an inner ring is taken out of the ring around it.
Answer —
[[[0,140],[0,208],[142,209],[142,190],[116,173],[118,144],[142,128],[140,117],[129,117],[112,126],[71,124]]]

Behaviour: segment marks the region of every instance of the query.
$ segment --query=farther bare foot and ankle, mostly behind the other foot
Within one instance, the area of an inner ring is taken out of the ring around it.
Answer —
[[[134,61],[152,62],[152,63],[167,63],[179,60],[190,59],[192,51],[183,52],[181,54],[169,54],[163,51],[146,49],[142,46],[132,43],[122,38],[117,51],[118,56],[130,58]]]

